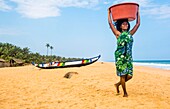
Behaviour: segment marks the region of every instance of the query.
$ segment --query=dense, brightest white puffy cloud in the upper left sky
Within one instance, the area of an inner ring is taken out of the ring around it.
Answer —
[[[16,11],[28,18],[45,18],[60,15],[60,9],[47,0],[12,0],[18,6]]]

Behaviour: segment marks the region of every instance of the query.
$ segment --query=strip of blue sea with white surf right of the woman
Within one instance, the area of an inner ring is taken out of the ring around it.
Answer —
[[[170,60],[137,60],[133,64],[170,70]]]

